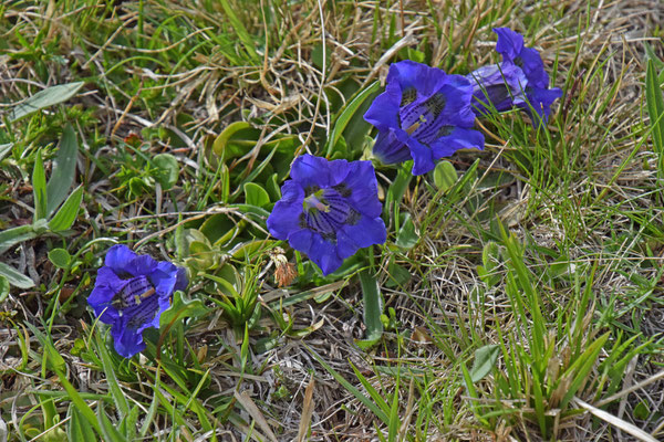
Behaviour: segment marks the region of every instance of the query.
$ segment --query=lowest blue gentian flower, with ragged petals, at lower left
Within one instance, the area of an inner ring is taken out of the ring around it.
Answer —
[[[115,350],[129,358],[145,349],[143,330],[159,328],[173,292],[187,284],[184,269],[117,244],[108,249],[87,303],[102,323],[112,325]]]

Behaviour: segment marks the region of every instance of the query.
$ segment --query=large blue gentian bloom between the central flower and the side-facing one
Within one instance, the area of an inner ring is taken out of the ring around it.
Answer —
[[[422,175],[458,149],[484,148],[484,136],[471,129],[471,97],[460,75],[409,60],[392,64],[385,92],[364,114],[378,129],[374,155],[385,164],[413,158],[413,175]]]

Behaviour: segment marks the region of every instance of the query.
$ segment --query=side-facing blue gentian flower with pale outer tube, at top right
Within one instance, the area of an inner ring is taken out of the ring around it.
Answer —
[[[549,74],[535,49],[523,45],[523,36],[508,28],[495,28],[496,51],[502,62],[483,66],[467,75],[473,81],[473,105],[478,116],[519,107],[530,116],[533,126],[547,123],[551,104],[562,96],[558,87],[549,88]],[[535,110],[535,114],[532,113]]]

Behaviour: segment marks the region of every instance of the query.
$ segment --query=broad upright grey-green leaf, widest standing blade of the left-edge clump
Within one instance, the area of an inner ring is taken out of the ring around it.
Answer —
[[[64,201],[76,176],[76,156],[79,155],[79,141],[72,125],[68,124],[62,133],[58,156],[53,162],[53,172],[46,186],[49,202],[46,213],[51,215]]]

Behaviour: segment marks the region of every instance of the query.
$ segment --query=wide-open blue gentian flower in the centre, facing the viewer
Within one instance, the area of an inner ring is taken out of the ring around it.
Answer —
[[[270,233],[307,253],[324,275],[357,249],[387,238],[371,161],[303,155],[281,187],[281,200],[268,218]]]

